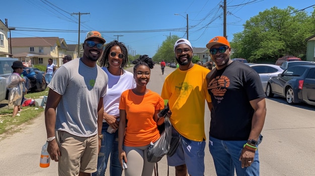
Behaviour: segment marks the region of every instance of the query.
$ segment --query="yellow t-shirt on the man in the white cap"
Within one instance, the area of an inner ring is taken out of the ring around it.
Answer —
[[[204,132],[205,100],[211,102],[206,75],[209,69],[195,64],[191,69],[176,69],[165,79],[162,98],[169,100],[174,128],[184,137],[202,141]]]

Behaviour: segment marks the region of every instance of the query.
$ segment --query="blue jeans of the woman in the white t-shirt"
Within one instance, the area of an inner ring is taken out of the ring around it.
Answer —
[[[109,154],[111,154],[109,168],[110,175],[119,176],[122,173],[122,167],[120,165],[118,157],[118,130],[116,130],[116,132],[114,133],[108,133],[107,132],[108,127],[109,124],[103,122],[102,126],[103,139],[97,161],[97,171],[92,173],[92,176],[105,175]]]

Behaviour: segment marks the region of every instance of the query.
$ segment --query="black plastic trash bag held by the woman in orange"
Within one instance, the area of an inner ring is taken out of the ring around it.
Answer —
[[[157,162],[162,159],[170,150],[170,144],[172,140],[172,124],[169,116],[166,114],[164,119],[165,129],[161,133],[160,138],[153,142],[146,151],[147,160],[149,162]]]

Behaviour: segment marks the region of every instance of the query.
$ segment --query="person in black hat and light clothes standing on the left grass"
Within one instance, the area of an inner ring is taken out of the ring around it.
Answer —
[[[23,84],[25,79],[21,77],[24,65],[21,61],[14,61],[12,64],[13,73],[7,79],[7,88],[9,89],[9,108],[13,108],[12,117],[20,116],[18,114],[23,97]]]

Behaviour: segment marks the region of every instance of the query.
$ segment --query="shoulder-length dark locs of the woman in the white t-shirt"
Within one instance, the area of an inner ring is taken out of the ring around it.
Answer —
[[[109,66],[108,55],[109,55],[109,53],[111,51],[111,48],[114,47],[114,46],[119,46],[120,49],[121,49],[121,53],[124,55],[124,58],[122,59],[122,64],[121,64],[120,67],[124,68],[124,67],[127,66],[127,63],[128,63],[128,51],[127,51],[127,48],[122,42],[118,42],[117,40],[114,40],[114,41],[108,43],[105,46],[105,50],[103,52],[102,59],[100,60],[100,66],[101,67]]]

